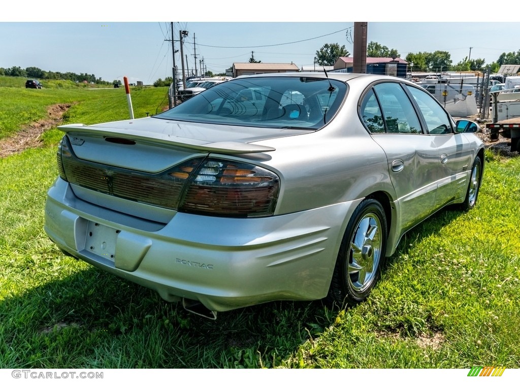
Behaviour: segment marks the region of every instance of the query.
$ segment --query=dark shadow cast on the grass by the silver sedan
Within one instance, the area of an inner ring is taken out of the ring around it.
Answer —
[[[460,215],[441,210],[410,230],[383,272],[408,253],[410,242]],[[219,313],[213,321],[88,266],[0,303],[0,361],[2,368],[276,367],[333,325],[341,309],[280,301]]]

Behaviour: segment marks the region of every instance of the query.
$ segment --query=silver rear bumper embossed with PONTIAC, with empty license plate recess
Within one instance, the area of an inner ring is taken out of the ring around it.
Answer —
[[[58,178],[48,191],[45,231],[61,250],[167,301],[184,297],[225,311],[326,296],[356,205],[265,218],[176,213],[155,224],[84,202]]]

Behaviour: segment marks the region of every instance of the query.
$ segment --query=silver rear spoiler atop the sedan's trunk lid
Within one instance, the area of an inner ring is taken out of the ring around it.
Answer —
[[[198,152],[210,152],[210,153],[224,153],[224,154],[236,154],[236,153],[261,153],[261,152],[272,152],[276,148],[270,146],[263,146],[257,144],[248,144],[246,142],[236,141],[224,141],[224,142],[206,142],[200,139],[177,137],[167,134],[151,133],[135,131],[131,129],[118,129],[118,128],[100,128],[95,126],[86,126],[83,123],[73,123],[58,126],[58,128],[64,133],[80,133],[85,135],[97,135],[107,137],[119,137],[131,139],[134,141],[145,140],[152,141],[154,143],[163,145],[173,145],[180,148],[195,150]],[[76,136],[79,134],[75,134]]]

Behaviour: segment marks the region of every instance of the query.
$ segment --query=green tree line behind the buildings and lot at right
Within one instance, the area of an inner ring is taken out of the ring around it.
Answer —
[[[326,43],[316,51],[315,62],[320,66],[333,66],[339,57],[348,57],[350,53],[345,45],[337,43]],[[391,49],[377,42],[367,45],[367,57],[400,58],[397,49]],[[502,53],[500,57],[486,64],[483,58],[464,58],[453,64],[448,51],[436,50],[433,53],[420,51],[419,53],[408,53],[405,60],[412,72],[444,72],[444,71],[486,71],[489,67],[491,73],[497,73],[502,65],[520,64],[520,50],[511,53]]]

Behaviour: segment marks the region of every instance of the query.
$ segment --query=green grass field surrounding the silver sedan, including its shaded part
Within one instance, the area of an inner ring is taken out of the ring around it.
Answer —
[[[165,93],[133,92],[136,118]],[[2,136],[57,102],[74,103],[70,123],[128,117],[121,88],[0,87],[0,102]],[[487,152],[477,207],[408,232],[367,302],[275,302],[210,321],[47,239],[60,135],[0,159],[0,368],[520,368],[520,158]]]

